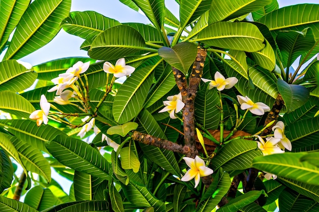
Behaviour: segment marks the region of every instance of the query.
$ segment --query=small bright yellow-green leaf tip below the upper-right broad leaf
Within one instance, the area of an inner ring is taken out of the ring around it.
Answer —
[[[252,59],[264,69],[272,71],[276,65],[275,53],[272,46],[265,40],[265,47],[259,51],[251,52]]]

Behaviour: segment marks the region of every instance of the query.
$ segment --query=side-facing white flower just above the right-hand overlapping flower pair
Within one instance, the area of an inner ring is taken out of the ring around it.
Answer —
[[[263,115],[264,112],[270,111],[270,107],[268,107],[266,104],[263,104],[262,102],[253,103],[253,101],[251,101],[251,99],[249,99],[247,96],[243,97],[237,95],[237,99],[238,102],[241,104],[242,110],[248,109],[251,113],[255,115]]]

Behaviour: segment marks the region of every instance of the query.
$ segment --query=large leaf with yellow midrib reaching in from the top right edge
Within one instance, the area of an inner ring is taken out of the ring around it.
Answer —
[[[258,22],[268,26],[274,36],[276,36],[280,31],[293,30],[301,32],[304,28],[311,27],[314,37],[317,40],[319,38],[318,11],[318,4],[291,5],[263,16],[258,20]]]

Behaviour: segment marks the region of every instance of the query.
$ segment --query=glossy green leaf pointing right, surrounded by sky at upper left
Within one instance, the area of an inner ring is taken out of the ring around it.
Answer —
[[[105,29],[120,25],[115,19],[108,18],[95,11],[70,12],[61,26],[65,32],[83,39],[92,39]]]

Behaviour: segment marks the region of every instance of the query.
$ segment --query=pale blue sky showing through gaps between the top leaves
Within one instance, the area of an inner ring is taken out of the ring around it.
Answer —
[[[167,7],[178,17],[178,5],[174,0],[165,1]],[[296,1],[296,0],[279,0],[279,7],[301,3],[318,3],[318,0]],[[123,5],[118,0],[75,0],[72,1],[71,11],[93,10],[104,16],[114,18],[120,22],[142,22],[149,23],[148,19]],[[47,62],[52,59],[70,56],[88,56],[86,51],[79,50],[84,40],[63,31],[46,46],[36,52],[21,58],[22,61],[31,63],[33,66]]]

